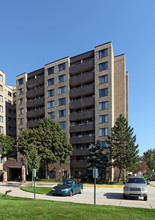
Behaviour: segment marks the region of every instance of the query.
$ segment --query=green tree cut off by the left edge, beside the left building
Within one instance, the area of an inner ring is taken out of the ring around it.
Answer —
[[[12,156],[14,139],[10,136],[0,134],[0,154],[2,157]]]

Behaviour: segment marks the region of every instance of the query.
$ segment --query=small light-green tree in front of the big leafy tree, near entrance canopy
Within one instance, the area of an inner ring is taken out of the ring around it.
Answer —
[[[32,171],[32,169],[36,169],[36,171],[38,171],[40,167],[40,156],[38,155],[38,150],[34,144],[28,145],[28,150],[25,156],[29,170]]]

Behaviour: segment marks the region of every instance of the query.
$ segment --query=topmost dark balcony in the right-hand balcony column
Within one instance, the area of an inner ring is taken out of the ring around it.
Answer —
[[[80,72],[89,71],[93,68],[94,68],[94,59],[90,59],[87,62],[80,63],[80,64],[77,64],[77,65],[72,65],[70,67],[69,72],[70,72],[71,75],[73,75],[73,74],[76,74],[78,72],[80,73]]]

